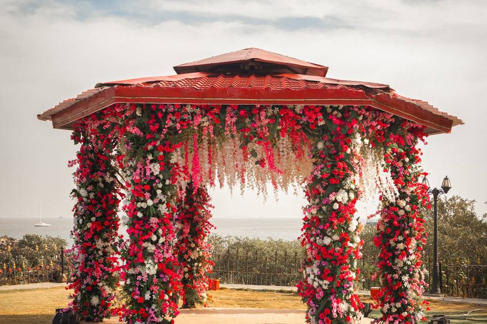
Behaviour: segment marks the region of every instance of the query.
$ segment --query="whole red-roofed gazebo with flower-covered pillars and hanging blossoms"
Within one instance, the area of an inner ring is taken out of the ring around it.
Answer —
[[[328,78],[326,66],[254,48],[174,69],[99,83],[38,115],[81,143],[72,161],[74,310],[92,321],[110,316],[120,273],[124,320],[169,323],[178,296],[188,306],[205,297],[207,186],[265,194],[272,183],[305,190],[297,286],[307,322],[361,317],[355,204],[377,193],[381,322],[418,322],[429,198],[416,145],[462,121],[387,85]],[[117,237],[119,209],[126,241]]]

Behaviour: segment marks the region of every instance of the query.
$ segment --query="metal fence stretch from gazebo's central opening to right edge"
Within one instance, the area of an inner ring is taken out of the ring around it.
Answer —
[[[252,251],[227,251],[212,256],[215,267],[211,278],[219,278],[223,284],[295,286],[302,274],[299,272],[303,255],[297,252],[275,251],[258,254]],[[446,261],[446,260],[445,260]],[[432,263],[427,260],[426,280],[431,284]],[[359,290],[369,290],[380,286],[374,278],[376,261],[363,258],[357,264],[360,269]],[[440,263],[440,287],[443,294],[455,297],[487,298],[487,265],[460,263]]]

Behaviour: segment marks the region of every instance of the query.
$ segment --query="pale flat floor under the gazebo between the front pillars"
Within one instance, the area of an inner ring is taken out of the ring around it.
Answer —
[[[372,320],[364,318],[361,324]],[[116,324],[117,318],[103,323]],[[197,308],[182,309],[175,324],[304,324],[304,311],[301,309],[270,308]]]

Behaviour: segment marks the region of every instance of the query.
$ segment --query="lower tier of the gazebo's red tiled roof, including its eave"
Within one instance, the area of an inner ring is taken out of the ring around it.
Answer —
[[[211,59],[210,63],[220,62],[220,65],[215,65],[218,69],[233,69],[225,65],[228,61],[222,60],[221,57],[218,60]],[[194,63],[197,64],[191,66],[207,64],[208,60]],[[38,118],[52,120],[55,128],[71,128],[75,120],[115,102],[351,104],[371,105],[416,121],[427,126],[429,133],[448,133],[453,126],[463,124],[458,117],[441,112],[425,101],[396,94],[388,85],[338,80],[320,75],[278,73],[276,69],[281,69],[280,64],[261,67],[256,73],[214,70],[100,83],[95,89],[64,100],[39,114]]]

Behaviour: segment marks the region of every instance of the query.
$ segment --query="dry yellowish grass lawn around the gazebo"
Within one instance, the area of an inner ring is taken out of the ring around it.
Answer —
[[[212,301],[208,307],[245,307],[245,308],[291,308],[305,309],[300,298],[292,293],[255,292],[223,289],[210,291]],[[69,291],[63,288],[34,289],[0,292],[0,324],[48,324],[51,323],[55,308],[65,307]],[[367,302],[367,300],[364,300]],[[459,316],[468,311],[482,309],[469,316],[472,320],[452,320],[452,323],[487,322],[487,307],[466,303],[451,303],[433,300],[431,311],[427,315],[445,314]],[[378,312],[374,311],[374,315]]]

